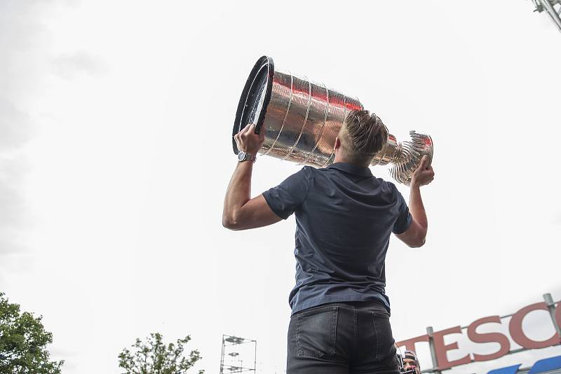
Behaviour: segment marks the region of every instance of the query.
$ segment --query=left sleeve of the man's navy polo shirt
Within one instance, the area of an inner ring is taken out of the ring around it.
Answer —
[[[278,186],[263,193],[271,210],[281,219],[288,219],[302,205],[309,190],[310,167],[302,167]]]

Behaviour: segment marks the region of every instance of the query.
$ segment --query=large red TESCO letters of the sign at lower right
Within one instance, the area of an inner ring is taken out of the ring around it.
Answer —
[[[536,303],[523,307],[521,310],[513,314],[511,321],[508,323],[508,332],[510,333],[512,340],[526,349],[544,348],[550,347],[551,345],[561,344],[561,336],[557,333],[555,333],[551,338],[543,341],[536,341],[527,337],[522,330],[522,321],[529,312],[533,312],[534,310],[549,311],[546,303]],[[557,322],[557,326],[561,326],[561,305],[558,305],[555,310],[555,321]],[[499,350],[492,354],[466,354],[466,356],[461,359],[449,361],[446,353],[452,349],[458,349],[458,342],[445,344],[444,337],[452,333],[461,334],[461,326],[454,326],[446,328],[445,330],[435,331],[432,338],[435,348],[436,361],[438,362],[438,370],[446,370],[454,366],[464,365],[473,361],[494,360],[511,352],[511,342],[508,340],[506,335],[503,335],[503,333],[478,333],[478,327],[483,324],[502,324],[501,317],[489,316],[473,321],[467,328],[468,339],[475,343],[499,343]],[[397,345],[405,346],[405,349],[411,349],[414,351],[416,342],[428,342],[428,340],[429,337],[428,334],[426,334],[417,336],[417,338],[400,341]]]

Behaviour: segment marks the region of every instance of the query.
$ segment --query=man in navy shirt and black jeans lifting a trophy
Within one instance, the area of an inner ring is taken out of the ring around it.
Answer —
[[[222,224],[231,230],[271,225],[296,215],[296,286],[290,293],[288,374],[398,374],[385,294],[384,261],[393,232],[410,247],[425,242],[420,187],[433,180],[424,158],[414,172],[410,206],[368,165],[388,130],[368,111],[352,111],[334,144],[332,165],[304,167],[250,197],[253,156],[264,131],[248,125],[234,137],[249,155],[229,183]],[[253,159],[255,160],[255,159]]]

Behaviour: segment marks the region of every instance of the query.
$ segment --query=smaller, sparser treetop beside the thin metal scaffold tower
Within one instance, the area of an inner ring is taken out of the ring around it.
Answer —
[[[151,333],[146,342],[136,340],[133,352],[123,349],[119,354],[119,368],[126,371],[123,374],[183,374],[201,359],[198,350],[192,350],[189,356],[184,356],[184,345],[191,340],[187,335],[183,339],[177,339],[177,343],[165,345],[162,335]],[[203,374],[199,370],[198,374]]]

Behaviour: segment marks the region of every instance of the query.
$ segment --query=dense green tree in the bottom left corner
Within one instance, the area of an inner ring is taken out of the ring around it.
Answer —
[[[20,305],[0,293],[0,373],[60,374],[64,361],[49,360],[46,345],[53,334],[45,331],[42,318],[20,313]]]

